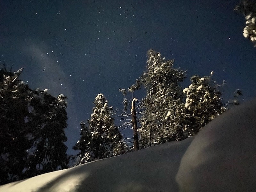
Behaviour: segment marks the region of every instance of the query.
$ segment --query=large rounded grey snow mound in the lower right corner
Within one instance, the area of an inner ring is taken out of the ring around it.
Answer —
[[[182,157],[176,180],[180,191],[256,191],[256,100],[204,127]]]

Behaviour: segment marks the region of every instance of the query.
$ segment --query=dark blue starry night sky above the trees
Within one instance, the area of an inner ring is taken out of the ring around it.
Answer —
[[[118,88],[129,88],[142,75],[150,48],[175,59],[174,68],[188,70],[184,88],[190,76],[215,71],[214,80],[227,81],[224,96],[241,89],[241,103],[255,97],[256,48],[243,36],[244,16],[233,11],[238,3],[2,0],[0,55],[7,68],[25,67],[20,78],[31,89],[68,97],[66,145],[75,155],[79,123],[90,118],[97,94],[122,109]]]

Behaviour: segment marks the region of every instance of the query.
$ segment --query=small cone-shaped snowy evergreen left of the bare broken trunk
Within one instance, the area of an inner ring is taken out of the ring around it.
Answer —
[[[123,136],[114,124],[111,116],[112,107],[108,106],[103,94],[98,94],[94,101],[91,119],[88,126],[81,122],[81,138],[73,147],[80,150],[78,164],[84,164],[95,159],[103,159],[123,154]]]

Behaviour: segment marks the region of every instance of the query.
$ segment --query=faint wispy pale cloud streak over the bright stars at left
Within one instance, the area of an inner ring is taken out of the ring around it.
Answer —
[[[28,84],[30,86],[33,85],[31,88],[48,89],[48,93],[55,97],[59,94],[64,94],[68,97],[68,129],[66,130],[66,135],[68,137],[67,146],[71,149],[76,143],[74,131],[79,135],[79,131],[77,131],[79,122],[76,120],[77,112],[73,100],[72,84],[68,79],[68,74],[66,74],[68,71],[64,70],[67,67],[61,66],[61,62],[57,62],[57,55],[53,55],[52,52],[47,54],[47,51],[51,49],[43,42],[42,44],[30,42],[29,45],[24,46],[24,49],[27,57],[32,60],[28,67],[25,66],[26,70],[32,70],[32,73],[31,71],[26,72],[29,75],[29,77],[26,76]]]

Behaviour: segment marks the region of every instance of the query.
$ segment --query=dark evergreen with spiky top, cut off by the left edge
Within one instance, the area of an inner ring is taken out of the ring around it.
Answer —
[[[30,142],[30,128],[24,121],[27,109],[28,85],[18,80],[22,72],[0,69],[0,185],[23,179]]]

